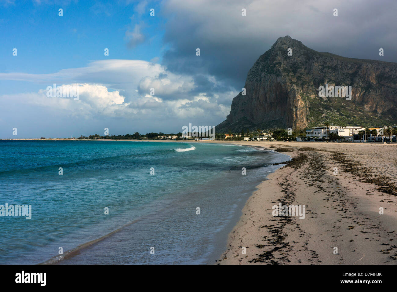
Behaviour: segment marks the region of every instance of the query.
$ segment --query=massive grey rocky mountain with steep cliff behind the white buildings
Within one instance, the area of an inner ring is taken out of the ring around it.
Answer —
[[[292,56],[288,56],[288,49]],[[351,86],[352,96],[319,97],[320,86]],[[316,52],[286,36],[258,58],[217,132],[397,123],[397,63]]]

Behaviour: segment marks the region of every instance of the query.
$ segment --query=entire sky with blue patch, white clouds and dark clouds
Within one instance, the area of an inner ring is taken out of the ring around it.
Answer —
[[[279,37],[397,62],[395,11],[395,0],[0,0],[0,138],[216,126]],[[54,84],[79,98],[48,96]]]

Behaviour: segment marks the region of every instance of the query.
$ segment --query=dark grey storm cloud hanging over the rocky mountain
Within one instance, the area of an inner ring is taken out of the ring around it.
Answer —
[[[241,15],[243,8],[247,16]],[[338,16],[333,16],[334,8]],[[172,49],[163,64],[171,72],[213,75],[240,91],[256,59],[285,35],[320,52],[397,62],[395,11],[394,0],[168,0],[161,13],[172,16],[164,35]],[[385,50],[383,57],[379,48]],[[202,88],[211,87],[210,80],[196,80]]]

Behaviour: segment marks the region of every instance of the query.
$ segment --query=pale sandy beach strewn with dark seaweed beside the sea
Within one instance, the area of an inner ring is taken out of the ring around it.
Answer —
[[[397,145],[218,143],[260,146],[293,158],[249,198],[218,264],[397,263]],[[279,203],[305,205],[304,219],[272,216]]]

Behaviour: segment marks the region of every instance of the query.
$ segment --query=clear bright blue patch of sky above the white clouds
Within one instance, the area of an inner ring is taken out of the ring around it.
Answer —
[[[161,61],[164,20],[160,15],[150,17],[147,6],[139,7],[139,1],[52,2],[3,2],[0,24],[6,29],[0,35],[0,54],[9,56],[10,48],[17,48],[18,55],[4,58],[0,72],[55,73],[109,58]],[[156,12],[158,3],[151,2],[150,8]],[[130,48],[125,34],[135,25],[145,36],[145,44]],[[109,48],[109,56],[104,56],[104,48]],[[29,86],[9,81],[0,81],[0,85],[3,93]]]

